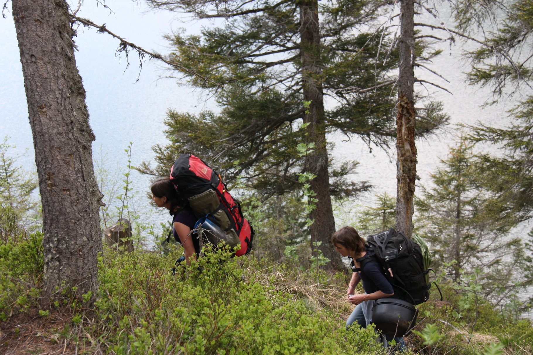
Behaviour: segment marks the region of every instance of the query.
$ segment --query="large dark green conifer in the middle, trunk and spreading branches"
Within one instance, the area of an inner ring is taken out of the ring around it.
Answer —
[[[177,152],[193,152],[215,162],[230,178],[244,174],[244,181],[264,197],[293,190],[297,174],[313,174],[310,184],[317,193],[317,208],[311,212],[311,242],[322,241],[322,253],[333,267],[341,265],[329,245],[335,229],[330,196],[353,197],[361,185],[332,189],[331,176],[350,173],[354,165],[345,163],[333,171],[326,133],[359,135],[379,146],[396,135],[390,93],[398,52],[387,30],[374,27],[378,4],[343,0],[320,5],[315,0],[150,4],[196,19],[225,20],[224,26],[204,27],[201,36],[167,37],[175,48],[169,61],[224,88],[183,72],[191,85],[212,92],[222,110],[199,116],[170,111],[167,133],[174,134],[171,142],[176,148],[157,147],[158,163],[167,170]],[[325,108],[325,95],[336,101],[330,109]],[[447,119],[440,115],[438,104],[426,113],[418,122],[421,134]],[[308,154],[298,155],[298,144],[305,144]],[[147,166],[143,170],[149,171]]]

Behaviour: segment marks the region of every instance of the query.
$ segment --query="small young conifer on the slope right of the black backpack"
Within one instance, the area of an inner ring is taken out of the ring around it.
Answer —
[[[480,271],[482,292],[502,301],[530,285],[526,249],[509,234],[516,224],[505,201],[490,187],[480,157],[463,137],[431,175],[435,187],[422,188],[416,223],[430,244],[435,269],[456,282]],[[502,186],[500,186],[502,188]]]

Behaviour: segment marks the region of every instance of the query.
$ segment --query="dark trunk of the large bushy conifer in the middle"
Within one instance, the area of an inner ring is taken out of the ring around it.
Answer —
[[[310,142],[316,144],[314,151],[306,157],[307,169],[317,175],[310,181],[311,190],[317,195],[317,208],[311,212],[311,243],[319,241],[319,249],[330,262],[328,269],[342,266],[341,256],[335,252],[330,238],[335,232],[335,218],[329,194],[328,153],[326,149],[326,125],[324,96],[322,94],[322,65],[320,59],[320,29],[318,22],[318,1],[300,1],[300,54],[302,60],[303,99],[311,101],[309,113],[305,114]],[[313,246],[313,249],[315,247]]]

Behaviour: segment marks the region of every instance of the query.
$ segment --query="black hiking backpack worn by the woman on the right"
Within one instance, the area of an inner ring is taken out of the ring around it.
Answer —
[[[371,260],[377,261],[394,289],[393,297],[420,304],[430,295],[431,257],[424,241],[415,239],[422,247],[394,228],[368,236],[367,254],[356,261],[361,263],[361,268]]]

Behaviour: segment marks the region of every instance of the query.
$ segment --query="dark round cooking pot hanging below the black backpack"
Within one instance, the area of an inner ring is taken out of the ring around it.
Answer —
[[[374,302],[372,322],[385,335],[404,336],[415,326],[418,311],[407,301],[381,298]]]

